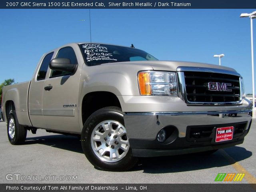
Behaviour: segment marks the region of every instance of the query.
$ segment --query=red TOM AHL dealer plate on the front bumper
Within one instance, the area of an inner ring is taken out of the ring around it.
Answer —
[[[234,126],[217,128],[215,142],[232,140],[233,133],[234,133]]]

